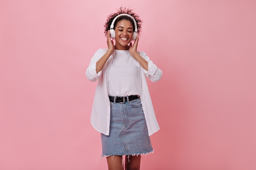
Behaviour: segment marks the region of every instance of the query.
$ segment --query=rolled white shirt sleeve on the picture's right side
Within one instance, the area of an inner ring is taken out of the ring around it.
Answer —
[[[150,79],[152,82],[157,82],[162,77],[162,70],[160,70],[153,61],[146,55],[146,53],[141,52],[141,57],[143,57],[148,62],[148,71],[143,69],[146,77]]]

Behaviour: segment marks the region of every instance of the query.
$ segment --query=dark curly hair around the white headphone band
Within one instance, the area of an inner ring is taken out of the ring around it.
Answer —
[[[107,21],[105,22],[104,24],[104,27],[105,27],[105,36],[107,36],[108,34],[108,30],[110,30],[110,26],[112,24],[112,21],[114,20],[114,18],[119,15],[119,14],[122,14],[122,13],[126,13],[126,14],[129,14],[131,15],[136,23],[137,23],[137,34],[139,35],[139,33],[141,32],[141,23],[142,23],[142,20],[139,19],[139,16],[133,12],[133,9],[126,9],[126,8],[119,8],[119,10],[117,10],[116,13],[112,13],[110,15],[108,15],[108,19]],[[128,17],[128,16],[120,16],[118,17],[116,20],[115,20],[115,23],[114,23],[114,29],[115,29],[115,26],[117,24],[117,22],[121,21],[121,20],[129,20],[130,22],[132,22],[132,26],[133,26],[133,31],[135,31],[135,25],[134,25],[134,22],[132,20],[132,18]]]

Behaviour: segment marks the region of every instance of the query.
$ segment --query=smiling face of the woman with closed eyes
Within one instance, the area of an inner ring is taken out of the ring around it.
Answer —
[[[115,26],[115,34],[115,49],[128,50],[133,35],[132,23],[129,20],[120,20]]]

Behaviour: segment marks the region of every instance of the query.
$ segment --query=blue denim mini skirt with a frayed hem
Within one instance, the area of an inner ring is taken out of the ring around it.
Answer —
[[[140,99],[110,102],[110,134],[101,134],[102,157],[153,152]]]

